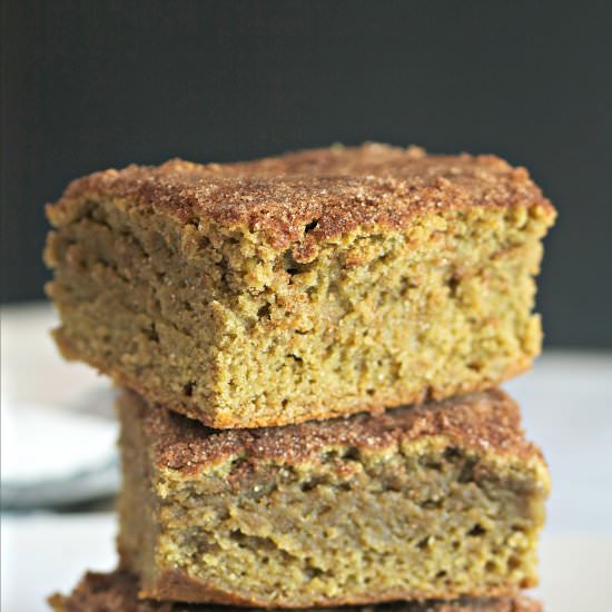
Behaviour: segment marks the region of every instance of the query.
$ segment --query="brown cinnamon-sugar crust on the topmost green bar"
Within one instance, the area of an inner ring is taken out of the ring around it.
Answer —
[[[167,211],[184,223],[215,221],[263,231],[276,248],[318,241],[357,227],[405,227],[419,213],[471,206],[554,208],[524,168],[494,156],[437,156],[379,144],[335,146],[238,164],[174,159],[75,180],[55,206],[53,223],[82,197],[110,195]],[[300,253],[296,253],[299,257]]]

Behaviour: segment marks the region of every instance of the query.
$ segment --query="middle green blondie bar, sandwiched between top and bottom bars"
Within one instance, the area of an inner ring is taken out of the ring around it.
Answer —
[[[536,583],[549,475],[501,391],[254,430],[119,403],[121,566],[157,600],[309,608]]]

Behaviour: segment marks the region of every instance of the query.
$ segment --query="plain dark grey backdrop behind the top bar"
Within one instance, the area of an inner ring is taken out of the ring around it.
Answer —
[[[77,176],[376,139],[527,166],[560,210],[547,342],[612,346],[609,6],[6,0],[2,300],[42,297]]]

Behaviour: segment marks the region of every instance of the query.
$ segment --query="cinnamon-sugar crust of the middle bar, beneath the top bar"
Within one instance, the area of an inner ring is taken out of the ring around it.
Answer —
[[[540,450],[523,437],[517,405],[500,389],[378,415],[228,431],[210,430],[165,408],[151,408],[132,392],[126,392],[124,402],[130,404],[128,409],[137,411],[132,414],[141,421],[158,465],[185,472],[233,456],[244,456],[251,463],[298,464],[316,461],[330,446],[379,451],[424,436],[444,436],[453,444],[482,453],[542,458]]]

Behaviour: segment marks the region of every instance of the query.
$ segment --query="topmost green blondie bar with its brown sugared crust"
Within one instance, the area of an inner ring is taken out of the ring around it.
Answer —
[[[171,160],[78,179],[47,210],[62,353],[213,427],[440,399],[540,351],[555,210],[493,156]]]

